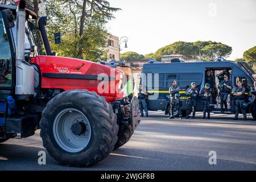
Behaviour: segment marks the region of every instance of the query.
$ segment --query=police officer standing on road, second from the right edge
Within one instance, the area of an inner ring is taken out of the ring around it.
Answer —
[[[241,110],[241,112],[243,114],[243,120],[246,121],[246,111],[243,108],[243,101],[245,100],[245,88],[243,88],[241,81],[238,81],[237,88],[234,91],[233,95],[234,95],[234,99],[236,100],[236,102],[235,102],[236,114],[235,114],[235,117],[233,118],[233,120],[238,119],[238,114],[239,114],[239,111]]]

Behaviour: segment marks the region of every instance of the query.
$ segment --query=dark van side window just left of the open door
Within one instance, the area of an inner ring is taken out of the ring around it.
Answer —
[[[191,86],[191,82],[195,82],[196,86],[200,86],[202,82],[202,74],[179,74],[178,85],[180,86],[181,89],[189,88]]]

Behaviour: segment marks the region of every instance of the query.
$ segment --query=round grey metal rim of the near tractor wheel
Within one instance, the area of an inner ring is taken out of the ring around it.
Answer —
[[[53,122],[53,136],[67,152],[80,152],[88,146],[92,129],[86,116],[77,109],[64,109]]]

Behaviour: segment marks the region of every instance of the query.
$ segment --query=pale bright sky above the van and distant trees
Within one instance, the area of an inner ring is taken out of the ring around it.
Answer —
[[[176,41],[212,40],[233,48],[229,60],[256,46],[256,0],[109,0],[122,10],[107,25],[145,55]],[[121,52],[121,53],[122,53]]]

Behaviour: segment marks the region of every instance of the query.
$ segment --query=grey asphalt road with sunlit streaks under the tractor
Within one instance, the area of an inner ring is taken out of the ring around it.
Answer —
[[[256,122],[232,121],[233,115],[211,120],[167,119],[163,112],[142,118],[131,140],[89,168],[60,166],[47,153],[38,164],[42,146],[39,131],[27,139],[0,144],[1,170],[256,170]],[[209,164],[209,151],[217,164]]]

